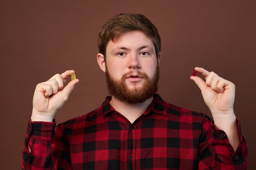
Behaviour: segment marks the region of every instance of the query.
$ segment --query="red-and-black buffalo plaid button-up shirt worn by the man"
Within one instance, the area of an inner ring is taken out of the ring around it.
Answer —
[[[159,95],[134,123],[109,104],[56,127],[29,120],[23,170],[244,170],[240,131],[234,152],[227,135],[203,114],[164,102]],[[31,153],[28,153],[28,146]]]

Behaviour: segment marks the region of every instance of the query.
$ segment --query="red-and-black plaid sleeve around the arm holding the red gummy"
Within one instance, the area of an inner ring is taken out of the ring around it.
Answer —
[[[247,170],[248,150],[237,119],[239,145],[233,150],[223,130],[218,129],[207,115],[202,123],[198,170]]]

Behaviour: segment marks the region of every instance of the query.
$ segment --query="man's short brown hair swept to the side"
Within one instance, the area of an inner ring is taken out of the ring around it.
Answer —
[[[114,16],[102,27],[99,38],[98,48],[99,53],[104,55],[106,61],[106,46],[109,40],[114,40],[115,36],[121,35],[126,31],[141,30],[148,35],[155,46],[155,53],[158,54],[161,50],[161,40],[158,34],[157,28],[155,27],[148,18],[141,14],[133,13],[120,13]]]

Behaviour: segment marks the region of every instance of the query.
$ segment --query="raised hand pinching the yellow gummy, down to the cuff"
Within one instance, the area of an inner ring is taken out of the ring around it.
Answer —
[[[74,70],[56,74],[46,82],[39,83],[33,97],[31,121],[52,122],[58,110],[65,104],[79,79],[74,79],[63,88],[63,84]],[[61,90],[63,88],[63,90]]]

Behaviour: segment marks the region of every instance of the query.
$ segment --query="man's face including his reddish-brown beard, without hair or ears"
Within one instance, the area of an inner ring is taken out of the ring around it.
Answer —
[[[110,95],[121,102],[141,103],[157,92],[159,68],[152,40],[128,31],[106,47],[106,79]]]

